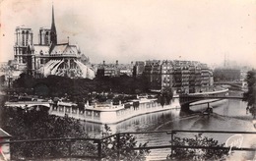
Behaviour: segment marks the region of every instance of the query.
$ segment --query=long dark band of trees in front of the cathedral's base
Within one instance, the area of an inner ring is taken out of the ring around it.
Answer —
[[[103,77],[89,80],[48,76],[47,78],[34,79],[29,75],[22,74],[18,80],[14,81],[13,86],[19,95],[27,93],[51,98],[67,97],[73,102],[85,103],[87,100],[92,101],[93,92],[145,93],[148,91],[148,84],[143,77],[121,76],[118,78]],[[102,96],[97,98],[99,102],[106,100]]]

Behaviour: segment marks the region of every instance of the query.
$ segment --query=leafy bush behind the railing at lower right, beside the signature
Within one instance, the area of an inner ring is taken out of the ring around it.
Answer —
[[[209,138],[202,134],[195,135],[195,138],[175,136],[173,145],[180,146],[206,146],[224,147],[218,140]],[[172,154],[167,156],[168,160],[219,160],[228,155],[228,149],[199,149],[199,148],[172,148]]]

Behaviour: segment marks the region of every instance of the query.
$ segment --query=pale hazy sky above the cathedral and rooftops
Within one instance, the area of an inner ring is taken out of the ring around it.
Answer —
[[[13,59],[14,32],[51,26],[58,43],[79,44],[91,63],[191,60],[256,67],[256,0],[2,0],[0,61]]]

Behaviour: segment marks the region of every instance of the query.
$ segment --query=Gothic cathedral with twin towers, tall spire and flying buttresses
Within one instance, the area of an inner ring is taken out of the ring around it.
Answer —
[[[81,53],[77,44],[57,43],[53,6],[51,27],[39,28],[38,44],[33,43],[32,35],[32,28],[16,27],[14,58],[19,70],[26,71],[36,78],[49,75],[95,78],[89,58]]]

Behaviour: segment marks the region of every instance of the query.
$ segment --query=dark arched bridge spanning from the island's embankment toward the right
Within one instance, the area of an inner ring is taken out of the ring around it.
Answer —
[[[200,104],[209,104],[213,102],[217,102],[222,99],[243,99],[243,96],[218,96],[218,95],[180,95],[179,96],[179,103],[181,106],[181,110],[189,111],[190,104],[193,102],[201,101],[201,100],[209,100],[204,103]]]

